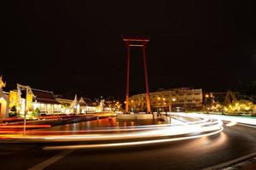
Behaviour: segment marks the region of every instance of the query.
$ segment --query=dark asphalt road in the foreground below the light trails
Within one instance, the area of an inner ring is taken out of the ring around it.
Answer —
[[[210,137],[115,149],[42,150],[43,145],[0,143],[1,170],[202,169],[256,152],[256,128],[224,126]]]

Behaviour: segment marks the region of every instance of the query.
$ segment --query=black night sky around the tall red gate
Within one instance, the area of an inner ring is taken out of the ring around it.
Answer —
[[[147,36],[149,88],[221,91],[256,79],[255,6],[246,1],[15,1],[1,7],[0,74],[55,94],[125,94],[122,35]],[[131,50],[131,93],[143,91]]]

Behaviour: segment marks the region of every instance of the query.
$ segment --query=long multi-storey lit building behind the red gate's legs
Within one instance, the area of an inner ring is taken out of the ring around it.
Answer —
[[[173,88],[149,93],[152,111],[171,111],[176,107],[199,110],[203,103],[202,89]],[[131,111],[145,111],[145,94],[133,95],[129,98]]]

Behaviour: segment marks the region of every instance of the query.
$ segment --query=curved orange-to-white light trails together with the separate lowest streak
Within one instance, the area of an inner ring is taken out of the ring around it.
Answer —
[[[185,117],[185,116],[184,116]],[[189,116],[187,116],[189,117]],[[220,133],[224,127],[217,119],[200,118],[194,122],[146,125],[134,127],[108,127],[83,131],[28,131],[23,134],[2,134],[3,142],[96,142],[69,146],[48,146],[44,149],[105,148],[113,146],[158,144],[183,139],[195,139]],[[162,137],[165,137],[163,139]],[[129,142],[125,141],[129,140]],[[132,141],[136,140],[136,141]],[[122,141],[122,142],[120,142]]]

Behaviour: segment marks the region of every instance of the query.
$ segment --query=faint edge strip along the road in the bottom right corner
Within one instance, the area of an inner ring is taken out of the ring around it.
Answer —
[[[251,158],[251,157],[254,157],[256,156],[256,152],[252,153],[252,154],[248,154],[246,156],[241,156],[239,158],[236,158],[234,160],[231,160],[231,161],[226,161],[224,163],[221,163],[221,164],[218,164],[218,165],[214,165],[212,167],[207,167],[207,168],[204,168],[203,170],[212,170],[212,169],[222,169],[224,167],[229,167],[229,166],[232,166],[236,163],[240,163],[241,161],[246,161],[247,159]]]

